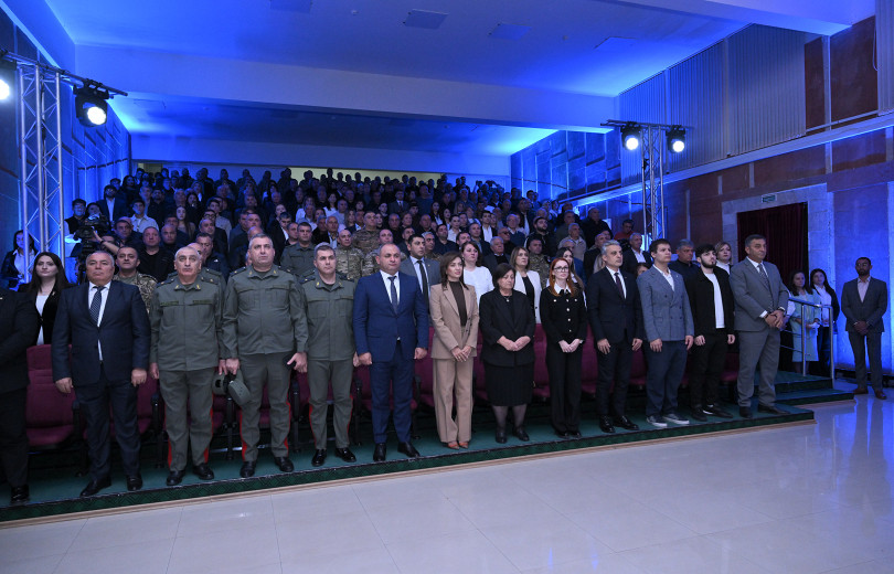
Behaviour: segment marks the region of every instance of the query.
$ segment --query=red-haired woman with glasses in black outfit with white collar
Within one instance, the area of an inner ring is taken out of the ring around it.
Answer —
[[[540,295],[540,322],[546,334],[546,370],[553,428],[562,438],[581,438],[581,364],[587,338],[584,293],[570,280],[565,258],[550,265],[550,286]]]

